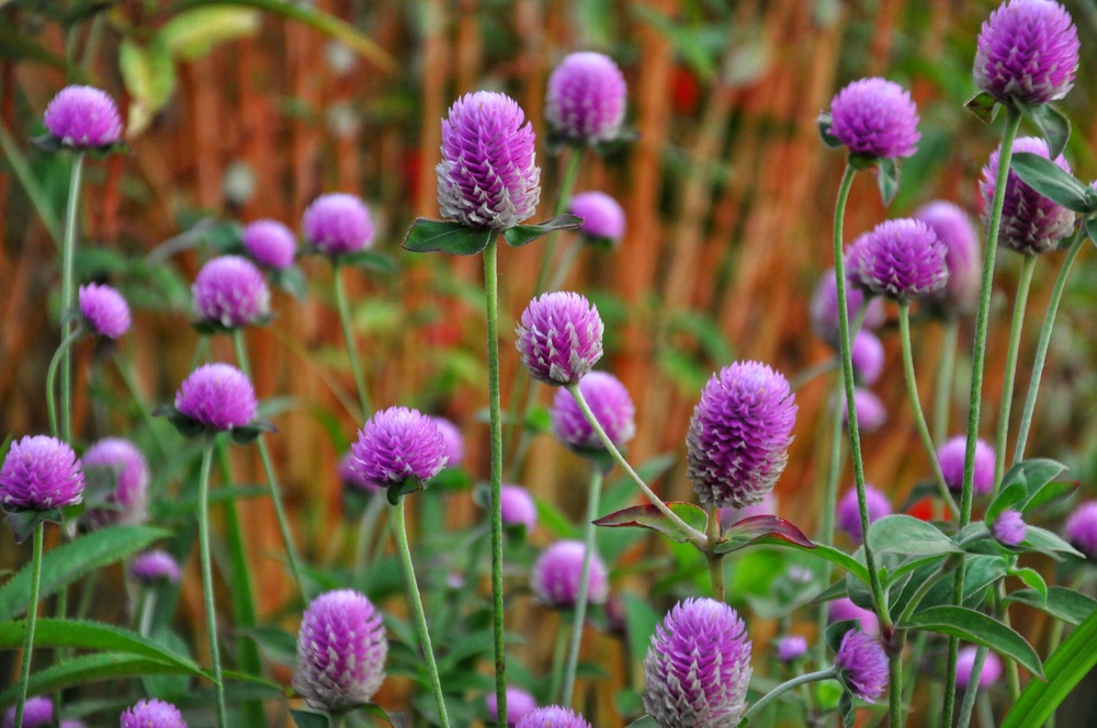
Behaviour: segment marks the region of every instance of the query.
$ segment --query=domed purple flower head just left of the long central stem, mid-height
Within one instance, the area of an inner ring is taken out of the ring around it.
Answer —
[[[351,445],[358,474],[381,486],[409,478],[429,480],[445,467],[445,439],[434,421],[416,409],[389,407],[375,413]]]

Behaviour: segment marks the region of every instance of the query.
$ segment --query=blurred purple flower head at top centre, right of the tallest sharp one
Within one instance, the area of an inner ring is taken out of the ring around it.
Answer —
[[[627,88],[621,69],[600,53],[573,53],[548,77],[545,117],[572,144],[612,141],[621,134]]]

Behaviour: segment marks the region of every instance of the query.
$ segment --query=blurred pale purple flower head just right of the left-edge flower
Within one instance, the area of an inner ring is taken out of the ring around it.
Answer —
[[[84,471],[105,468],[116,478],[116,488],[108,498],[115,509],[88,509],[80,521],[93,528],[115,523],[137,524],[148,520],[146,497],[148,493],[148,463],[145,456],[128,440],[106,437],[100,440],[83,454]]]

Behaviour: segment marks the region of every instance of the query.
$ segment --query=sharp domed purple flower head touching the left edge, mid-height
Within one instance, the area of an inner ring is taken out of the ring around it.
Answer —
[[[48,435],[13,440],[0,467],[0,508],[49,511],[83,497],[80,460],[67,444]]]

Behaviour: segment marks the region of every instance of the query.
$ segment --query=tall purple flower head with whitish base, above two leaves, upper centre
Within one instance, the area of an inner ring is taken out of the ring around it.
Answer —
[[[471,228],[508,230],[541,201],[533,125],[510,96],[468,93],[442,121],[438,206],[442,217]]]

